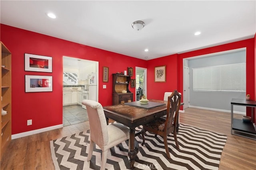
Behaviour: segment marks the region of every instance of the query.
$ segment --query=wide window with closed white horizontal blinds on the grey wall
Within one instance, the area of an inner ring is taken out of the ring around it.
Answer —
[[[246,63],[193,68],[194,91],[246,91]]]

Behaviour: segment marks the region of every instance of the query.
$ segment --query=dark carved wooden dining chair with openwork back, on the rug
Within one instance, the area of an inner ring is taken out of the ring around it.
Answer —
[[[176,124],[177,124],[177,118],[178,118],[178,112],[180,110],[180,100],[181,100],[181,94],[174,90],[170,96],[168,96],[168,102],[167,102],[167,117],[166,118],[158,118],[150,123],[146,123],[143,125],[143,128],[141,130],[142,134],[142,146],[145,143],[145,133],[146,131],[155,133],[156,135],[160,135],[164,139],[164,147],[166,150],[167,158],[170,158],[170,153],[168,149],[168,141],[167,141],[167,135],[173,132],[174,140],[176,143],[176,147],[180,149],[178,144],[178,139],[176,135]],[[172,119],[174,115],[174,121]]]

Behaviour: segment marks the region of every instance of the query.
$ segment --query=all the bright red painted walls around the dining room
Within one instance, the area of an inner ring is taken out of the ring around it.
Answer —
[[[133,67],[134,72],[135,66],[147,68],[147,97],[162,100],[166,91],[177,89],[183,92],[184,58],[246,47],[246,94],[251,94],[251,100],[256,96],[256,37],[144,61],[3,24],[0,25],[0,35],[1,41],[12,52],[12,134],[62,124],[63,56],[99,62],[99,102],[107,106],[112,104],[112,73],[123,72],[127,67]],[[52,73],[24,71],[24,53],[52,57]],[[166,65],[166,83],[156,83],[154,68],[162,65]],[[103,66],[109,67],[108,82],[100,80]],[[53,91],[25,93],[25,74],[53,76]],[[107,85],[106,89],[102,88],[103,84]],[[135,100],[135,88],[130,90]],[[33,124],[27,126],[27,119],[32,119]]]

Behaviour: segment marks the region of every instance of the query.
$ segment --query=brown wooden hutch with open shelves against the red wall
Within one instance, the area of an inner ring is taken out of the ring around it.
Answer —
[[[113,98],[112,104],[124,104],[126,102],[133,102],[133,93],[129,90],[129,83],[131,76],[122,74],[112,74],[113,76]],[[122,93],[126,90],[127,93]]]

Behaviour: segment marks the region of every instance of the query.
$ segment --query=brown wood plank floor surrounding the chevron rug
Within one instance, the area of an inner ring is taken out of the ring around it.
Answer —
[[[230,134],[230,113],[187,108],[180,113],[180,123],[227,135],[219,170],[256,170],[256,141]],[[84,129],[89,129],[88,121],[13,139],[1,160],[1,170],[54,170],[49,141]]]

